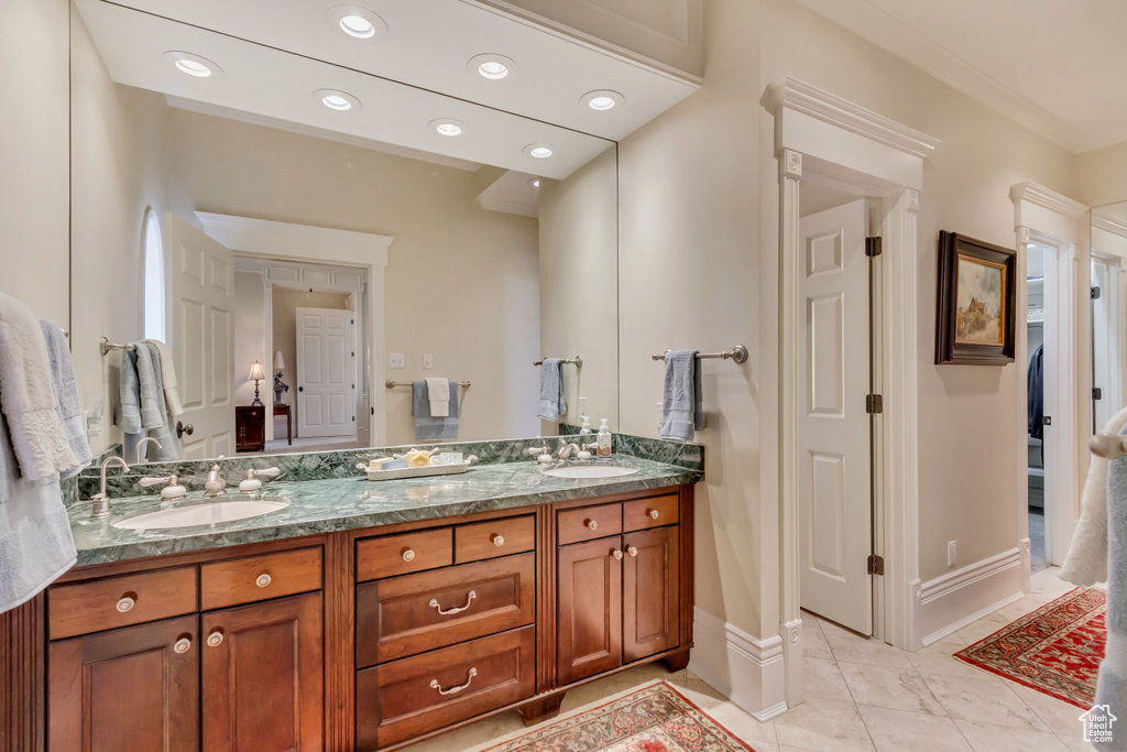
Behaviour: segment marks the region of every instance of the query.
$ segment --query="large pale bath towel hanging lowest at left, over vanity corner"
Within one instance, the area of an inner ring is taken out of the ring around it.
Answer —
[[[59,475],[20,478],[0,416],[0,613],[34,598],[77,560]]]

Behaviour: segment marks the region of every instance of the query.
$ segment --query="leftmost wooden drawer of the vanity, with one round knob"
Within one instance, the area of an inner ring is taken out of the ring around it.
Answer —
[[[195,567],[109,577],[47,591],[51,639],[196,610]]]

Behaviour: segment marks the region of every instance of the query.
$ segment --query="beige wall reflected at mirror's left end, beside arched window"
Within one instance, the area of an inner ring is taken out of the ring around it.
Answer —
[[[103,357],[98,338],[132,342],[141,331],[142,231],[152,207],[163,224],[167,108],[160,95],[113,82],[76,11],[71,28],[71,351],[83,408],[103,400],[95,454],[122,441],[121,353]]]

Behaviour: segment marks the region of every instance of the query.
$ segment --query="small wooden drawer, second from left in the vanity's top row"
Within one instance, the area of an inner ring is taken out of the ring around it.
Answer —
[[[321,589],[321,549],[249,556],[199,567],[204,611]]]

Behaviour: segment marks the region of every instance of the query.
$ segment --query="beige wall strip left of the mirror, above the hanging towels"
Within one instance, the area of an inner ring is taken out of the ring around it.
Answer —
[[[0,292],[70,326],[68,0],[0,2]]]

